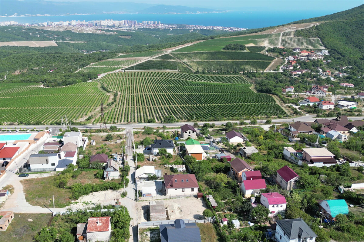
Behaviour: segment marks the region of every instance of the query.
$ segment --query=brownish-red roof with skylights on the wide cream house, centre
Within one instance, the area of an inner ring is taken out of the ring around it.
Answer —
[[[166,189],[198,188],[198,183],[194,174],[164,175],[163,177]],[[175,182],[175,180],[177,180],[177,182]]]

